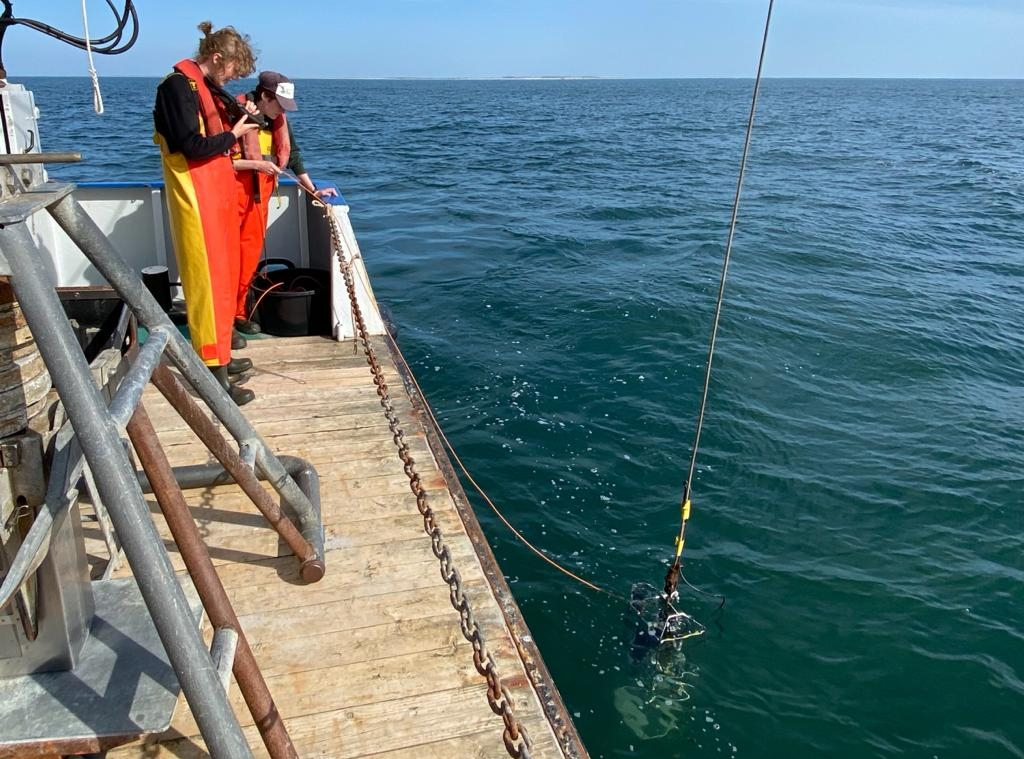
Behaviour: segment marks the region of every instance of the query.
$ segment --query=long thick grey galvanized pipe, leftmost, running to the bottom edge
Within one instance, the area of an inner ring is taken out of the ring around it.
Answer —
[[[70,196],[57,205],[65,209],[74,206],[78,214],[85,215]],[[102,237],[95,224],[92,226],[94,235]],[[78,224],[71,224],[66,231],[78,242]],[[111,248],[109,242],[106,246]],[[44,256],[24,219],[22,223],[0,226],[0,251],[11,266],[14,294],[81,440],[85,459],[96,475],[99,496],[110,509],[125,555],[210,753],[217,759],[251,759],[252,752],[193,622],[118,429],[42,265]],[[206,374],[213,381],[209,372]]]

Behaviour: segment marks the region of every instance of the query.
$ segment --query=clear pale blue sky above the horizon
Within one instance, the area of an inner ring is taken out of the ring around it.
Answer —
[[[115,0],[117,5],[122,0]],[[767,0],[138,0],[135,47],[103,76],[159,76],[195,52],[196,25],[250,35],[260,69],[293,78],[749,77]],[[113,28],[89,0],[92,36]],[[16,15],[81,35],[80,0],[15,0]],[[7,33],[12,78],[85,76],[85,53]],[[766,76],[1024,78],[1024,0],[776,0]]]

